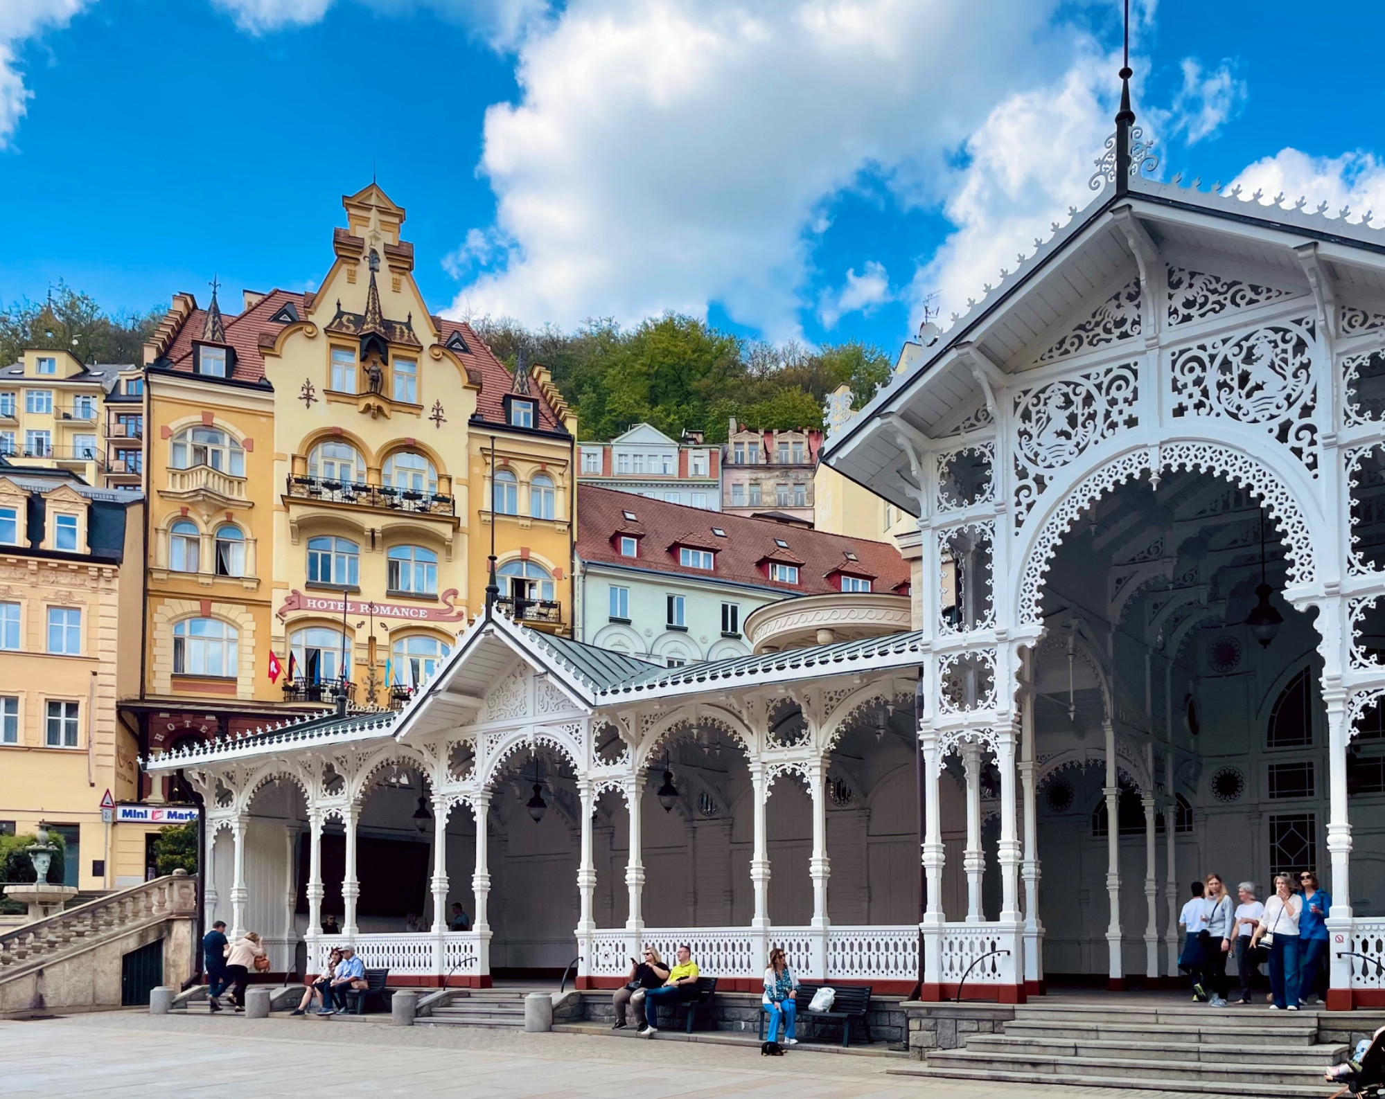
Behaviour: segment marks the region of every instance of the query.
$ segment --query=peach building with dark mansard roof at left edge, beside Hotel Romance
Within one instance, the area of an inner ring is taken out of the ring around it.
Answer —
[[[66,883],[144,880],[159,825],[104,824],[101,800],[137,794],[137,738],[116,699],[138,684],[140,497],[61,469],[0,461],[0,829],[47,821]],[[125,644],[122,644],[122,639]]]

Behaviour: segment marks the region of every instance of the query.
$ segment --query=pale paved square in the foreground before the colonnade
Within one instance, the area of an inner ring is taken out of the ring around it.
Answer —
[[[770,1060],[758,1048],[313,1017],[154,1017],[132,1010],[0,1021],[0,1093],[6,1099],[1173,1099],[1172,1092],[885,1074],[904,1063],[803,1049]]]

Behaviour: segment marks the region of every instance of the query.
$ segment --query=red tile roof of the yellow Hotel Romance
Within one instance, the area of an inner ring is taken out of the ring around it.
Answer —
[[[312,309],[313,298],[313,293],[270,291],[244,313],[223,313],[226,342],[235,349],[235,370],[231,372],[231,376],[242,382],[262,381],[265,378],[262,340],[271,346],[274,335],[283,328],[280,324],[273,324],[270,317],[278,313],[285,302],[292,302],[299,316],[306,317]],[[476,415],[488,424],[504,426],[504,397],[514,385],[514,376],[496,358],[490,347],[486,346],[486,342],[476,335],[470,324],[442,317],[432,317],[431,320],[439,329],[439,343],[446,346],[453,335],[460,335],[465,345],[465,350],[453,347],[453,354],[461,360],[471,383],[481,386],[481,392],[476,394]],[[194,371],[193,342],[202,339],[205,324],[206,310],[191,310],[179,325],[168,350],[161,356],[161,365],[191,374]],[[417,329],[424,336],[425,343],[431,342],[427,325],[418,325]],[[564,430],[562,422],[558,419],[553,404],[544,396],[542,386],[530,385],[529,397],[537,401],[539,406],[537,428],[550,432]]]

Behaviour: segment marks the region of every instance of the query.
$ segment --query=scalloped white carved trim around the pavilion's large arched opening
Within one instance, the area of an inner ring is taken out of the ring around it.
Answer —
[[[1227,425],[1227,432],[1231,428]],[[1109,493],[1127,480],[1143,473],[1176,469],[1201,471],[1248,489],[1260,497],[1274,526],[1284,540],[1284,556],[1288,565],[1291,584],[1306,584],[1317,577],[1317,555],[1313,550],[1307,516],[1317,509],[1305,508],[1307,497],[1289,487],[1285,478],[1278,476],[1253,451],[1255,446],[1227,446],[1222,442],[1202,439],[1170,439],[1154,446],[1127,450],[1115,458],[1107,458],[1086,476],[1073,478],[1065,491],[1054,494],[1053,501],[1042,514],[1030,515],[1021,530],[1029,534],[1021,559],[1025,562],[1018,577],[1017,617],[1019,626],[1042,626],[1039,598],[1048,565],[1068,530],[1093,501]],[[1285,454],[1288,450],[1285,448]],[[1291,455],[1292,457],[1292,455]],[[1284,464],[1292,468],[1289,462]],[[1301,498],[1302,497],[1302,498]],[[1036,512],[1039,509],[1036,508]]]

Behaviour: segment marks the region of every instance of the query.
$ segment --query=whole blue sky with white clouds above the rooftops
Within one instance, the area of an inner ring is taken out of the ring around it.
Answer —
[[[1385,216],[1374,6],[1136,7],[1161,170]],[[0,299],[310,288],[374,167],[435,309],[895,349],[1087,201],[1118,36],[1101,0],[21,0]]]

